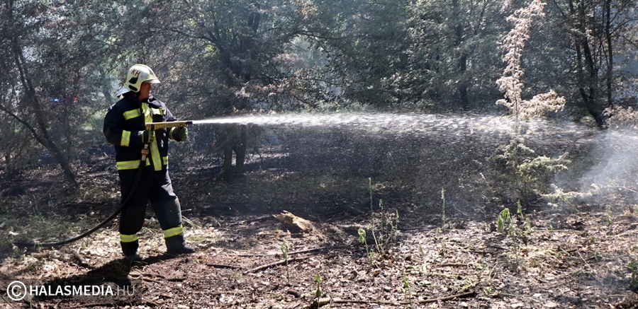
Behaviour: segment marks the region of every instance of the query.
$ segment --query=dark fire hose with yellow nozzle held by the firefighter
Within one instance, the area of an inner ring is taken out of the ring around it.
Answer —
[[[186,127],[186,124],[193,124],[193,122],[190,120],[174,121],[174,122],[152,122],[152,123],[145,124],[145,127],[148,131],[155,131],[155,130],[171,128],[171,127]],[[113,214],[111,214],[111,216],[108,216],[108,218],[104,219],[102,222],[100,222],[98,225],[91,228],[89,231],[79,234],[73,238],[56,241],[54,243],[36,243],[36,242],[32,243],[32,242],[25,242],[25,241],[14,241],[13,245],[16,245],[16,247],[57,247],[61,245],[66,245],[68,243],[73,243],[74,241],[85,238],[86,236],[91,235],[95,231],[99,230],[100,228],[105,226],[106,223],[111,222],[113,218],[115,218],[118,214],[122,212],[124,207],[128,204],[128,202],[130,202],[130,199],[131,197],[133,197],[133,194],[135,193],[135,191],[138,190],[138,187],[140,186],[140,181],[142,180],[142,173],[144,172],[144,168],[146,165],[145,163],[146,163],[147,156],[148,156],[148,144],[145,144],[144,148],[142,148],[142,158],[140,160],[140,166],[138,167],[138,173],[135,175],[135,182],[133,182],[133,188],[131,189],[130,193],[128,194],[126,199],[124,199],[124,201],[120,204],[120,206],[118,206],[118,209],[116,209],[116,211],[113,212]]]

